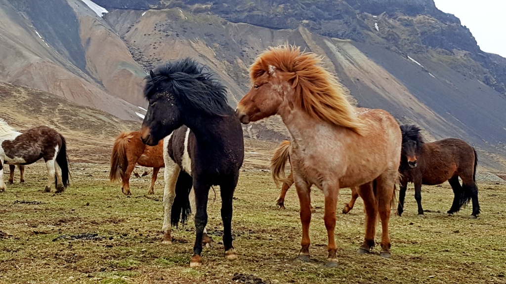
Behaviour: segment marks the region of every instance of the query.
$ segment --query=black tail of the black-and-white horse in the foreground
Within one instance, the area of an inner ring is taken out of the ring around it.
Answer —
[[[171,224],[178,226],[181,218],[181,223],[184,225],[188,216],[191,215],[190,205],[190,192],[193,186],[193,178],[185,171],[180,171],[178,180],[176,181],[176,197],[171,210]]]

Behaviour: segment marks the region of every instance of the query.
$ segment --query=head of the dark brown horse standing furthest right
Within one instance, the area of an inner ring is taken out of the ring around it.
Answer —
[[[403,124],[400,127],[402,132],[401,159],[403,160],[401,162],[407,160],[409,167],[415,168],[417,165],[416,155],[424,143],[420,128],[414,124]]]

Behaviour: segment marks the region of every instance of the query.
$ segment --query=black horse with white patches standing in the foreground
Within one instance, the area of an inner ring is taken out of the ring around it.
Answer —
[[[209,188],[220,185],[225,255],[236,259],[232,198],[244,159],[244,141],[241,123],[227,104],[225,87],[207,67],[189,58],[150,71],[146,80],[144,96],[149,106],[142,123],[142,141],[156,145],[167,135],[167,143],[173,141],[164,151],[165,161],[175,163],[172,176],[165,171],[164,220],[171,216],[172,225],[178,224],[180,217],[182,222],[186,220],[193,188],[196,238],[190,266],[201,265]],[[179,128],[182,125],[187,128]],[[164,239],[172,239],[171,224],[164,222],[163,230]]]

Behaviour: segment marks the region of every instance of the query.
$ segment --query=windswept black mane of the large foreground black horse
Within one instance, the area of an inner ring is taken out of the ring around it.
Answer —
[[[144,97],[150,100],[157,93],[171,93],[182,104],[209,115],[230,115],[227,90],[205,65],[191,58],[170,61],[146,76]]]

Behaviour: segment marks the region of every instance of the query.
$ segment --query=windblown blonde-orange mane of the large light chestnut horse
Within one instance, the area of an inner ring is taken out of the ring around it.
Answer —
[[[311,117],[343,126],[358,134],[366,132],[365,125],[348,101],[343,85],[321,66],[314,53],[301,52],[299,47],[283,44],[261,53],[249,68],[251,81],[269,72],[271,66],[292,83],[294,104]]]

